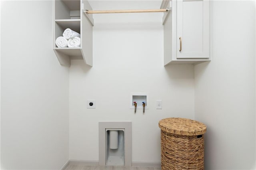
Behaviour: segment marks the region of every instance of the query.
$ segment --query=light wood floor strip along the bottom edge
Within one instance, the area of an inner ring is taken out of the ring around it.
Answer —
[[[68,165],[65,170],[161,170],[161,168],[142,166]]]

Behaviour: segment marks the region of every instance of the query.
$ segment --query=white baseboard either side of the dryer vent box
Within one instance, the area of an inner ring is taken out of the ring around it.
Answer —
[[[99,165],[98,160],[68,160],[66,164],[61,168],[64,170],[68,165]],[[161,167],[161,162],[149,162],[149,161],[138,161],[132,162],[132,166],[142,166],[142,167]]]

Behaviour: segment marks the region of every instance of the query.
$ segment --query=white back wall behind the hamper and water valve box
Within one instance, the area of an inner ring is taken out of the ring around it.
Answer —
[[[94,15],[94,22],[94,66],[72,60],[70,67],[70,159],[98,161],[99,121],[132,121],[132,162],[160,162],[158,121],[194,119],[194,67],[163,66],[162,14]],[[130,109],[131,92],[149,93],[144,115]],[[87,99],[96,109],[86,109]]]

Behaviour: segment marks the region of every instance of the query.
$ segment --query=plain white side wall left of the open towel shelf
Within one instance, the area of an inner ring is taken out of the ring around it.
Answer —
[[[68,160],[68,68],[52,50],[52,1],[1,2],[1,168]]]

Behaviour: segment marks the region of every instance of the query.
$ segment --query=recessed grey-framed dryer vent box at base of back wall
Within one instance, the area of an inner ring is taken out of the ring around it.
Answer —
[[[132,122],[99,122],[99,164],[132,166]]]

